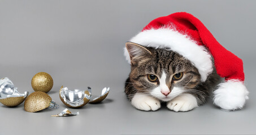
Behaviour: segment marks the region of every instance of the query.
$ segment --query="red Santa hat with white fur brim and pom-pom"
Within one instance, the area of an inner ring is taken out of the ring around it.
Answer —
[[[224,110],[241,109],[245,105],[249,92],[244,86],[242,60],[226,50],[190,13],[177,12],[159,17],[147,24],[131,42],[146,47],[170,48],[196,66],[203,82],[212,73],[213,57],[217,74],[225,78],[213,92],[214,104]],[[124,53],[130,61],[126,48]]]

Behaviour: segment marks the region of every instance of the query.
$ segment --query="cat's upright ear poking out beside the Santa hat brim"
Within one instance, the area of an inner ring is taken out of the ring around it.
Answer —
[[[150,56],[151,52],[147,50],[144,46],[140,44],[127,42],[125,43],[125,47],[129,53],[131,64],[137,64],[138,61],[142,60],[142,58],[146,56]]]

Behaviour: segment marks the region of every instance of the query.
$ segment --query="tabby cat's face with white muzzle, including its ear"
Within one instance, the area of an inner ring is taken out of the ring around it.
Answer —
[[[170,101],[201,83],[197,68],[176,52],[129,42],[126,47],[132,66],[129,78],[138,92]]]

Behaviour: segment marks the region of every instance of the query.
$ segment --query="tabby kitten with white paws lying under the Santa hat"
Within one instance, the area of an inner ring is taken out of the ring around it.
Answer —
[[[206,103],[211,89],[221,79],[214,70],[202,82],[192,62],[170,48],[144,47],[132,42],[125,47],[131,59],[125,93],[138,110],[158,110],[160,102],[166,102],[172,111],[192,110]]]

